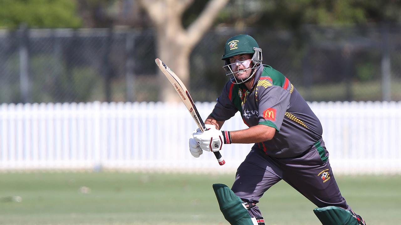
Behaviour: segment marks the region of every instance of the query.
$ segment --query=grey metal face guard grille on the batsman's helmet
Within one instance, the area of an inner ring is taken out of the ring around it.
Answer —
[[[256,72],[257,67],[259,67],[259,65],[262,63],[262,50],[261,48],[257,48],[257,47],[253,47],[254,53],[251,59],[249,60],[244,60],[244,61],[237,61],[234,63],[229,63],[229,59],[225,59],[225,65],[223,66],[224,70],[226,71],[226,76],[231,76],[231,82],[233,82],[234,84],[242,84],[245,82],[248,82],[249,80],[251,80],[251,78],[253,77],[253,75]],[[253,64],[252,67],[251,63]],[[242,64],[243,66],[245,66],[245,69],[243,70],[239,70],[239,64]],[[233,68],[238,68],[237,70],[233,70]],[[235,77],[235,74],[239,74],[241,72],[244,72],[245,70],[252,70],[252,73],[249,77],[245,78],[245,79],[237,79]]]

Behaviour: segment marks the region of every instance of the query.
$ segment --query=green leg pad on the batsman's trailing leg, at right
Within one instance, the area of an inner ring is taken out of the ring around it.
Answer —
[[[313,210],[322,225],[358,225],[358,220],[348,210],[336,206]]]

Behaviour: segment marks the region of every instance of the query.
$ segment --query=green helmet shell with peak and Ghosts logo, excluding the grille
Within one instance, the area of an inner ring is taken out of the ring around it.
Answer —
[[[226,60],[231,56],[239,54],[254,54],[255,50],[259,50],[259,52],[261,52],[261,49],[259,48],[259,45],[255,39],[248,34],[239,34],[227,40],[224,46],[224,55],[221,57],[221,59]]]

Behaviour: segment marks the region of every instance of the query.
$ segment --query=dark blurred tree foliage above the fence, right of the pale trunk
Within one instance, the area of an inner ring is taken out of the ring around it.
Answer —
[[[401,22],[399,0],[232,0],[219,22],[228,25],[298,29]]]

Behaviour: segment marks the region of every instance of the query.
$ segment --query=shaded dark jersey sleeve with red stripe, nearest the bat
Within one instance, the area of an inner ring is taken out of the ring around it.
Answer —
[[[217,98],[215,108],[210,114],[210,116],[217,121],[226,121],[233,117],[238,111],[232,101],[233,87],[234,84],[232,84],[231,82],[227,82],[227,84],[223,88],[223,91],[221,92],[221,95],[219,96],[219,98]]]

